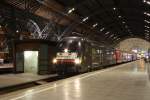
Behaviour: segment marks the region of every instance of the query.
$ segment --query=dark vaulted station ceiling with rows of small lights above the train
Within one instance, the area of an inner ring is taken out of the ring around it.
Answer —
[[[21,3],[24,0],[5,1],[15,6],[25,6]],[[31,12],[35,12],[41,6],[41,2],[52,0],[31,1]],[[96,30],[99,36],[103,34],[108,40],[120,41],[129,37],[138,37],[150,41],[150,1],[148,0],[55,1],[64,7],[62,13],[74,8],[71,13],[78,15],[78,20],[88,17],[84,23],[92,30]]]

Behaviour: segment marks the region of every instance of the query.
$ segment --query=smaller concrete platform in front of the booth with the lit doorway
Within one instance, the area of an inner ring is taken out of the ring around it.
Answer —
[[[56,76],[56,74],[54,75],[37,75],[32,73],[3,74],[0,75],[0,88],[29,83],[53,76]]]

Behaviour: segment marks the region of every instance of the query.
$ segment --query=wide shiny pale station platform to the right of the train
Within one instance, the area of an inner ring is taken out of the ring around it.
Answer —
[[[0,100],[150,100],[143,60],[0,95]]]

